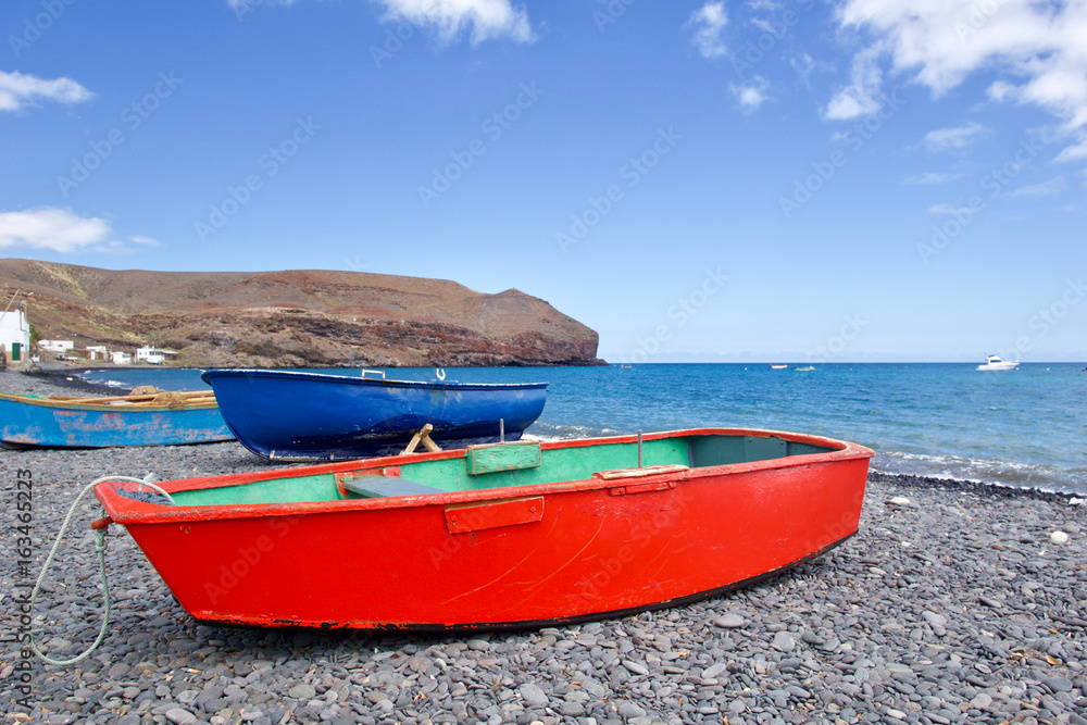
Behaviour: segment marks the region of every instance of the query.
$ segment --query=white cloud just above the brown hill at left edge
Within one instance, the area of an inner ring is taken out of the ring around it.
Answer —
[[[104,220],[86,218],[71,209],[37,207],[23,212],[0,212],[0,249],[28,247],[74,252],[100,245],[112,233]]]

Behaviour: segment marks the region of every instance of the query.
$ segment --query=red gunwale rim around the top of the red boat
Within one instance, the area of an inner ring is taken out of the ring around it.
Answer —
[[[850,460],[871,459],[875,451],[859,443],[853,443],[822,436],[767,430],[759,428],[689,428],[683,430],[665,430],[642,436],[644,441],[662,440],[696,436],[753,436],[760,438],[775,437],[788,442],[798,442],[833,448],[835,450],[819,453],[802,453],[785,455],[761,461],[723,463],[711,466],[700,466],[680,472],[651,474],[639,477],[638,484],[671,483],[699,480],[721,475],[742,475],[775,468],[792,468],[819,464],[832,464]],[[567,448],[587,448],[600,445],[627,445],[637,442],[637,435],[609,436],[601,438],[577,438],[541,442],[541,450]],[[384,467],[418,463],[424,461],[440,461],[464,458],[465,449],[439,451],[404,455],[389,455],[362,461],[343,461],[320,465],[297,466],[277,471],[258,471],[225,476],[202,476],[180,478],[158,484],[170,493],[192,490],[207,490],[245,486],[265,480],[296,478],[300,476],[330,475],[355,471],[380,470]],[[633,468],[634,466],[632,466]],[[521,486],[502,486],[463,491],[445,491],[441,493],[423,493],[417,496],[378,497],[362,499],[338,499],[332,501],[291,501],[274,503],[226,503],[211,505],[178,505],[146,503],[121,497],[117,488],[136,489],[138,484],[122,482],[103,482],[95,487],[95,496],[105,509],[107,514],[115,523],[122,525],[161,524],[177,522],[220,521],[228,518],[259,518],[270,516],[350,513],[357,511],[382,511],[388,509],[413,509],[432,505],[448,505],[452,503],[472,503],[477,501],[495,501],[521,498],[525,496],[572,493],[595,489],[611,489],[629,486],[630,479],[608,480],[603,478],[583,478],[573,480],[551,482],[544,484],[525,484]],[[120,507],[120,508],[118,508]]]

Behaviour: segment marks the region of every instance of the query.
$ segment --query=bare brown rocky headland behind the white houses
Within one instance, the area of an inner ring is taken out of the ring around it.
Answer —
[[[592,365],[597,334],[515,289],[361,272],[146,272],[0,260],[42,339],[197,366]]]

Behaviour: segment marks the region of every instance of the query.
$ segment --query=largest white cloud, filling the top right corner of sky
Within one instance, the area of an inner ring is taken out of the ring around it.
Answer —
[[[1065,134],[1087,139],[1084,0],[842,0],[837,15],[844,27],[875,36],[858,59],[889,55],[895,72],[936,97],[977,71],[999,74],[990,100],[1046,109]]]

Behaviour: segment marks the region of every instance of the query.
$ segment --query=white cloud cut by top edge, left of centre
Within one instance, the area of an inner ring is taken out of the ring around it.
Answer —
[[[528,13],[509,0],[377,0],[386,20],[430,26],[449,42],[471,28],[472,43],[508,37],[517,42],[536,39]]]

